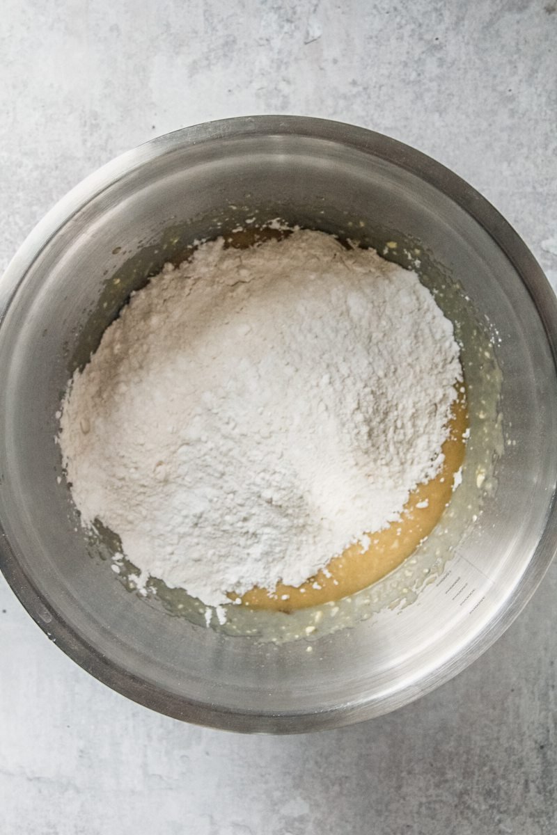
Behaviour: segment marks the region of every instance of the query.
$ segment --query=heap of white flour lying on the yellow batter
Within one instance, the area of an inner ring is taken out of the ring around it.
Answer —
[[[398,519],[442,462],[460,378],[413,272],[316,232],[218,240],[132,296],[74,374],[63,462],[143,583],[220,605]]]

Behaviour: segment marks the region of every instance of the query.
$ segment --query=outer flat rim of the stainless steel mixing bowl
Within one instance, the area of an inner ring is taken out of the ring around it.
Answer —
[[[310,116],[240,116],[195,124],[150,139],[102,166],[82,180],[48,211],[13,256],[0,279],[0,327],[18,287],[25,280],[28,270],[43,247],[73,215],[109,186],[132,171],[149,164],[150,161],[184,146],[210,143],[215,139],[270,135],[299,136],[343,144],[408,170],[441,190],[488,233],[514,266],[534,301],[557,370],[557,299],[534,256],[499,211],[465,180],[421,151],[370,129]],[[435,669],[428,671],[419,681],[418,687],[414,683],[397,691],[395,698],[388,704],[372,704],[364,698],[354,704],[343,703],[326,711],[285,711],[271,714],[236,711],[210,703],[191,701],[183,696],[162,691],[139,677],[122,671],[96,650],[84,635],[73,630],[64,620],[62,613],[52,611],[41,590],[33,584],[19,564],[0,519],[0,570],[28,614],[66,655],[105,685],[151,710],[203,726],[244,732],[298,733],[339,727],[379,716],[415,701],[463,671],[504,633],[534,594],[555,553],[557,505],[554,493],[549,503],[544,532],[507,605],[504,609],[500,608],[485,630],[475,635],[466,645],[466,653],[461,648],[457,655],[443,660]]]

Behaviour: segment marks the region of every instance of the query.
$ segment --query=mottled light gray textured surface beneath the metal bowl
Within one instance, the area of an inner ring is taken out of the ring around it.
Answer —
[[[0,266],[84,175],[205,119],[300,113],[432,154],[557,285],[548,0],[3,0]],[[391,716],[273,738],[181,725],[73,665],[0,582],[2,835],[557,831],[557,564],[468,671]]]

